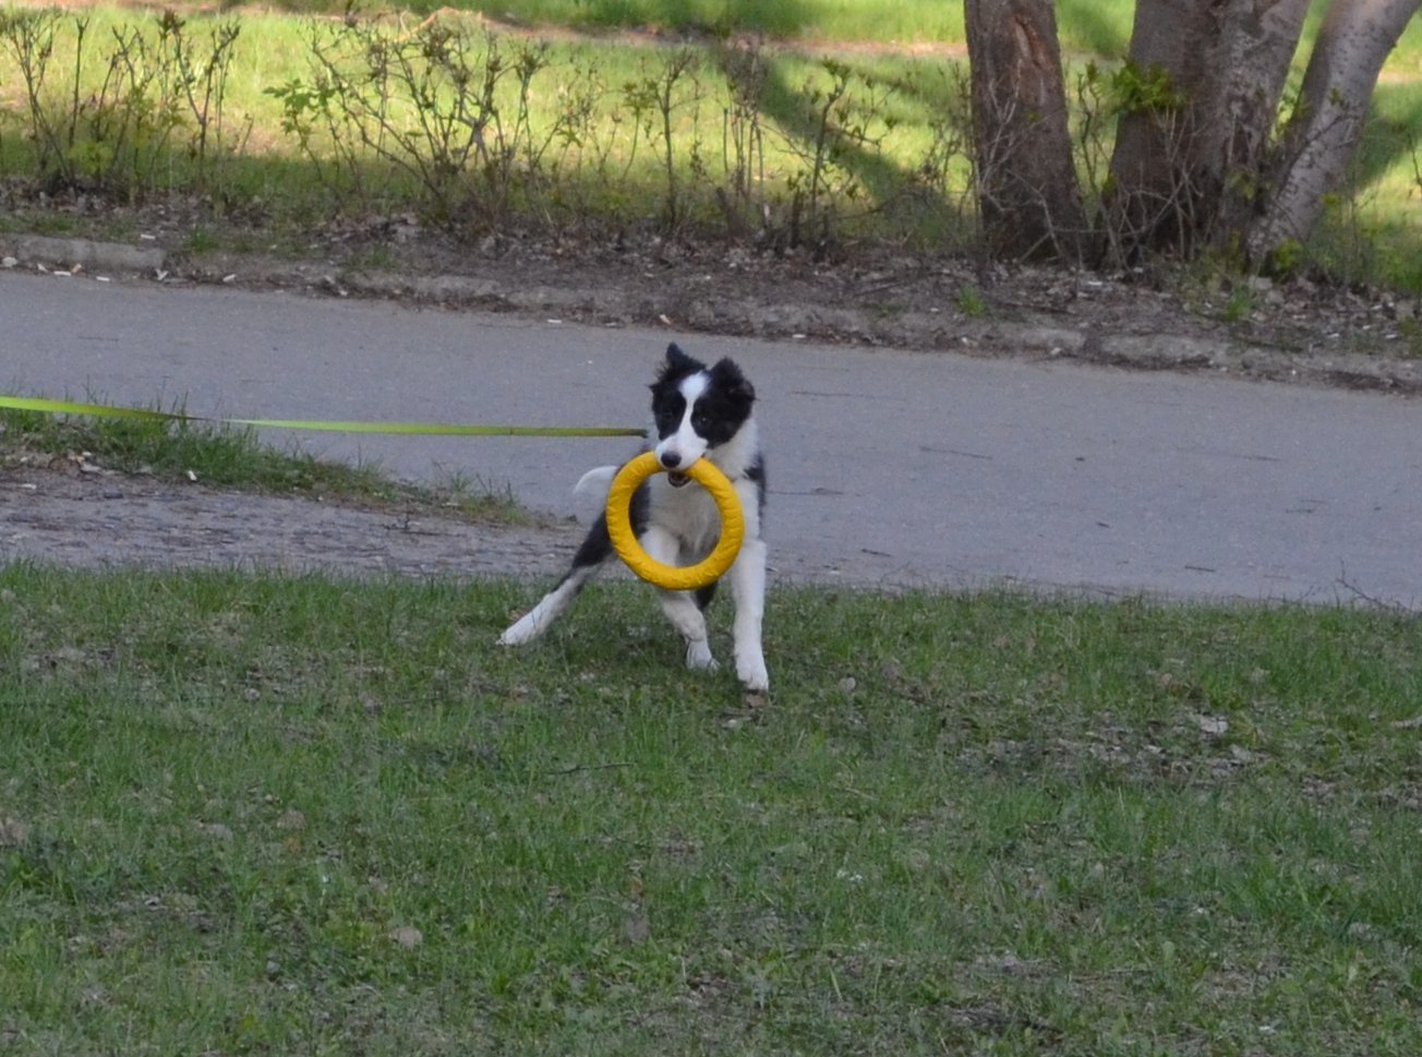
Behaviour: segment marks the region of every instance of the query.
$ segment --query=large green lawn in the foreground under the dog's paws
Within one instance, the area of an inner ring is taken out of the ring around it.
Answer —
[[[1422,1046],[1415,617],[533,593],[0,570],[7,1051]]]

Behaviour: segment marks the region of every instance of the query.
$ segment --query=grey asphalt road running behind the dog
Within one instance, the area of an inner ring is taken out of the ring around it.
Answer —
[[[641,425],[671,339],[755,381],[772,563],[796,576],[1422,607],[1418,401],[0,273],[0,391],[193,414]],[[559,514],[586,468],[636,447],[301,442]]]

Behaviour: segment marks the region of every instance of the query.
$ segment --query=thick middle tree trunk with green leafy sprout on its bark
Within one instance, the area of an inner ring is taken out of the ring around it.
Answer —
[[[1103,228],[1119,260],[1189,256],[1251,211],[1308,0],[1140,0]]]

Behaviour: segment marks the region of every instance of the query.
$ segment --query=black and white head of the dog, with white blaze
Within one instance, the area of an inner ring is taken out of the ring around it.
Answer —
[[[668,471],[685,469],[708,451],[729,442],[751,417],[755,387],[729,358],[707,367],[667,346],[667,358],[651,383],[653,451]],[[670,474],[677,487],[685,474]]]

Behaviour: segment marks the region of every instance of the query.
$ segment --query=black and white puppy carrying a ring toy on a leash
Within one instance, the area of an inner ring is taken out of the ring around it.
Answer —
[[[651,384],[656,432],[653,451],[668,471],[644,481],[631,499],[631,525],[648,556],[667,565],[694,565],[704,559],[721,535],[721,519],[711,494],[691,481],[687,467],[711,460],[725,474],[745,514],[745,541],[725,573],[735,599],[735,674],[747,690],[769,689],[761,649],[765,609],[765,542],[761,514],[765,509],[765,458],[751,414],[755,388],[734,361],[722,358],[707,367],[667,347],[667,358]],[[594,492],[606,505],[607,489],[619,467],[599,467],[577,482],[579,492]],[[573,556],[573,568],[553,590],[501,637],[503,646],[538,639],[614,553],[607,536],[607,515],[600,514]],[[663,590],[661,609],[687,640],[687,667],[714,669],[702,610],[717,585],[695,592]]]

